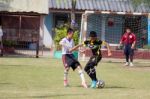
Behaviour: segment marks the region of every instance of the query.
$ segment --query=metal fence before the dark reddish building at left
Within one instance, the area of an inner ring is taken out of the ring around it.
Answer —
[[[3,15],[1,20],[1,55],[39,57],[42,54],[39,16]]]

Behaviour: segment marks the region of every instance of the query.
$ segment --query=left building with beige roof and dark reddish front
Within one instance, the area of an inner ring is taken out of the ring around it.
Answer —
[[[10,51],[8,46],[12,46],[17,54],[33,50],[38,57],[44,35],[44,17],[48,13],[48,0],[1,0],[4,54]]]

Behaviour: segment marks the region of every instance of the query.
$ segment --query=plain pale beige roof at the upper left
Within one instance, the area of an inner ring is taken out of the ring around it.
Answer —
[[[1,12],[48,14],[48,0],[0,0]]]

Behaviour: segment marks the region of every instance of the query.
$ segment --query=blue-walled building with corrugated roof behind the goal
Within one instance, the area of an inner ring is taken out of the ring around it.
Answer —
[[[137,35],[138,47],[148,40],[148,7],[144,4],[134,8],[130,0],[76,0],[76,22],[80,28],[81,16],[88,11],[109,11],[111,13],[93,14],[88,17],[88,30],[95,30],[99,38],[106,40],[111,44],[118,44],[125,27],[132,27]],[[52,47],[55,33],[52,31],[58,25],[70,21],[70,12],[72,9],[71,0],[49,0],[49,15],[45,18],[45,27],[47,27],[44,44]],[[127,13],[117,15],[114,13]],[[131,15],[142,13],[142,15]],[[144,40],[143,35],[146,35]]]

